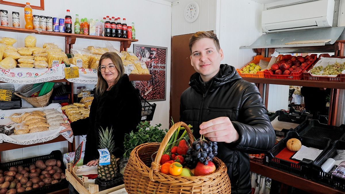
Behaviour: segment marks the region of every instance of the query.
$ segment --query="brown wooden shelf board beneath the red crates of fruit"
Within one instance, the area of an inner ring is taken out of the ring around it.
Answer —
[[[287,79],[268,79],[268,78],[247,78],[242,79],[255,84],[278,84],[288,86],[307,86],[317,88],[345,89],[345,82],[316,81],[316,80],[287,80]]]

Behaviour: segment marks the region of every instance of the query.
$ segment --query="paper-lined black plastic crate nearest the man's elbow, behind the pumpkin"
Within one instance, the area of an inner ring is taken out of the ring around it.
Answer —
[[[299,124],[294,129],[293,128],[282,129],[281,131],[274,130],[274,132],[276,133],[276,136],[278,137],[285,137],[287,132],[302,130],[308,125],[306,115],[289,115],[289,114],[284,113],[284,111],[278,110],[276,111],[276,114],[271,116],[269,119],[272,122],[276,117],[278,117],[278,121]]]

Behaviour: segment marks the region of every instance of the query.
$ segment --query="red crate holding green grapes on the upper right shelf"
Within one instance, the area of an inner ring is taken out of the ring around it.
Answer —
[[[331,57],[329,54],[321,54],[315,64],[321,59],[321,57],[327,57],[327,58],[339,58],[344,59],[345,57]],[[305,71],[303,71],[303,78],[304,80],[317,80],[317,81],[334,81],[334,82],[345,82],[345,74],[338,74],[336,77],[325,77],[325,76],[315,76],[309,73],[308,71],[311,70],[314,65],[313,64],[309,68],[305,68]]]

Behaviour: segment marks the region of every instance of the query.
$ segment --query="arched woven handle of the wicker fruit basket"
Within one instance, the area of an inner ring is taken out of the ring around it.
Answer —
[[[160,170],[160,166],[159,166],[160,163],[159,162],[160,162],[160,158],[163,155],[165,147],[167,146],[167,144],[168,144],[172,134],[174,134],[175,131],[180,126],[184,127],[187,130],[187,133],[188,133],[188,136],[189,136],[190,145],[193,144],[194,136],[193,136],[192,131],[190,130],[190,128],[188,127],[188,125],[186,123],[178,122],[178,123],[175,123],[173,126],[171,126],[171,128],[169,129],[168,133],[165,135],[164,139],[162,140],[162,143],[159,146],[159,149],[158,149],[155,161],[151,163],[151,169],[150,169],[150,172],[149,172],[149,177],[150,177],[151,181],[154,181],[153,180],[153,171],[159,172],[159,170]]]

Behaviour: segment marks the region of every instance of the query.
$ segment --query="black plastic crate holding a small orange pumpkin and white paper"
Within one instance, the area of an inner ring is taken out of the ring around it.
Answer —
[[[286,137],[280,140],[270,151],[266,154],[267,165],[273,168],[277,168],[281,171],[285,171],[300,177],[310,178],[312,176],[311,169],[313,167],[312,160],[303,159],[298,164],[286,161],[284,159],[277,158],[276,156],[286,147],[286,142],[291,138],[297,138],[302,142],[302,145],[307,147],[313,147],[317,149],[322,149],[321,154],[315,159],[319,159],[329,148],[331,142],[328,138],[323,138],[321,140],[312,139],[309,137],[302,137],[297,134],[297,132],[290,131],[287,133]]]

